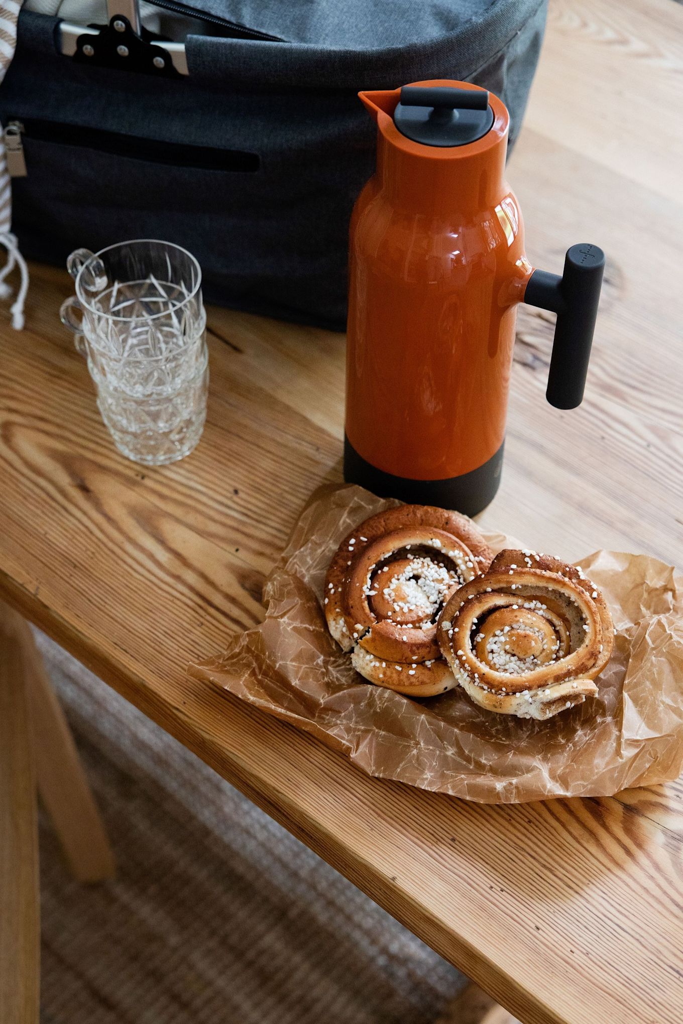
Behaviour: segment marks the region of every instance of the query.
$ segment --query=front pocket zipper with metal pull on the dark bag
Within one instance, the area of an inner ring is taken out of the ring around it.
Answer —
[[[27,166],[23,136],[39,142],[56,142],[99,153],[110,153],[131,160],[146,160],[171,167],[191,167],[204,171],[257,171],[258,154],[244,150],[220,150],[208,145],[185,142],[164,142],[159,139],[140,138],[101,128],[84,128],[59,122],[32,119],[24,122],[9,121],[4,131],[7,153],[7,170],[10,177],[25,177]],[[14,168],[14,170],[12,169]]]

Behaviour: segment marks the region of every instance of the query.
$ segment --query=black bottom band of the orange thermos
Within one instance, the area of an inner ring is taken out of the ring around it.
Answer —
[[[398,498],[411,505],[436,505],[476,515],[496,496],[501,482],[504,446],[505,441],[482,466],[462,476],[446,480],[412,480],[377,469],[358,455],[348,437],[344,437],[344,479],[347,483],[358,483],[380,498]]]

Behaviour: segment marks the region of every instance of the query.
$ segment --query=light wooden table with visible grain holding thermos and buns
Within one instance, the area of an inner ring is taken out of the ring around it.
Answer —
[[[545,404],[552,317],[520,316],[482,516],[567,558],[683,562],[682,30],[670,0],[554,0],[510,165],[533,263],[559,271],[578,241],[608,254],[581,409]],[[298,510],[340,477],[343,339],[211,310],[204,439],[143,469],[114,450],[58,324],[71,291],[36,266],[24,334],[2,313],[0,595],[523,1021],[680,1022],[680,781],[477,806],[366,777],[185,677],[259,621]]]

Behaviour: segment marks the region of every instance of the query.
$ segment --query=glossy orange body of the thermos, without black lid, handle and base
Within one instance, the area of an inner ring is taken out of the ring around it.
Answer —
[[[505,181],[508,112],[490,94],[490,131],[440,148],[395,127],[398,89],[360,98],[378,150],[351,218],[346,433],[385,472],[444,479],[482,465],[505,434],[515,305],[531,273]]]

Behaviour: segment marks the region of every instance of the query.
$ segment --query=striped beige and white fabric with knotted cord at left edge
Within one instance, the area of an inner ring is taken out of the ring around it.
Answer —
[[[9,68],[16,48],[16,18],[22,4],[17,0],[0,0],[0,83]],[[0,128],[0,245],[7,250],[7,262],[0,270],[0,298],[7,298],[11,289],[5,283],[5,278],[15,266],[22,274],[22,284],[16,299],[10,309],[12,327],[20,331],[24,327],[24,302],[29,288],[29,270],[19,252],[16,236],[12,234],[12,187],[7,170],[4,134]]]

